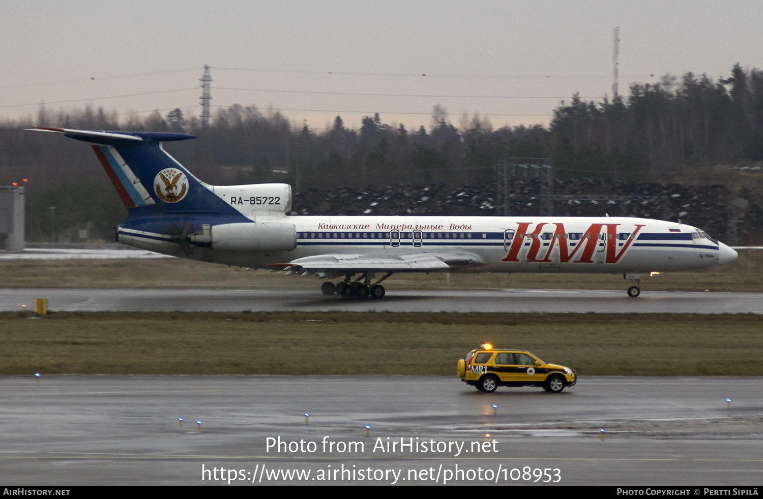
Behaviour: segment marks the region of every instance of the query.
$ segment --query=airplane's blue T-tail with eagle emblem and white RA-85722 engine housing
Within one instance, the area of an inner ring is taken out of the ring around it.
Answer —
[[[205,184],[162,147],[163,142],[196,136],[48,127],[27,130],[63,133],[70,139],[91,144],[127,206],[127,219],[117,228],[117,241],[127,245],[169,254],[182,251],[188,256],[197,246],[215,242],[218,247],[230,246],[230,242],[212,238],[213,226],[220,235],[233,229],[239,232],[242,227],[246,228],[243,232],[264,229],[262,223],[253,223],[259,221],[271,222],[268,226],[272,228],[274,218],[280,219],[291,210],[288,184]],[[293,234],[293,226],[285,232]],[[246,249],[256,250],[262,245],[257,246]]]

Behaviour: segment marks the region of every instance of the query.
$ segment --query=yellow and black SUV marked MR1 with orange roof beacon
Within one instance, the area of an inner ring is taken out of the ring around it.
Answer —
[[[540,386],[546,392],[560,393],[578,382],[575,371],[568,367],[547,364],[524,350],[504,350],[490,344],[459,360],[458,373],[462,382],[488,393],[499,386]]]

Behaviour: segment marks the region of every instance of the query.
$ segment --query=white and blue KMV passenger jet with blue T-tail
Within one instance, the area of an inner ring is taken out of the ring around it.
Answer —
[[[205,184],[163,149],[163,142],[192,135],[26,130],[91,144],[127,206],[118,242],[198,261],[317,275],[327,279],[324,294],[346,299],[383,298],[381,283],[398,272],[617,273],[635,282],[627,292],[635,298],[641,273],[700,270],[738,257],[680,220],[289,215],[290,185]]]

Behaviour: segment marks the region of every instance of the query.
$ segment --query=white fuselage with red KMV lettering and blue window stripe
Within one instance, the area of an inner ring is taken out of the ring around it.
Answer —
[[[194,246],[188,254],[169,236],[163,241],[136,233],[120,240],[179,257],[255,268],[317,255],[444,254],[470,261],[446,271],[642,273],[700,270],[737,256],[692,226],[631,217],[269,215],[256,222],[293,224],[296,247],[227,251]]]

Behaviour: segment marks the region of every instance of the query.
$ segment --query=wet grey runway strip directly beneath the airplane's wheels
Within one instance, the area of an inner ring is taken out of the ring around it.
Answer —
[[[581,289],[389,289],[381,300],[344,300],[294,289],[0,289],[0,311],[47,298],[56,311],[145,312],[597,312],[763,313],[763,293],[691,293]]]

